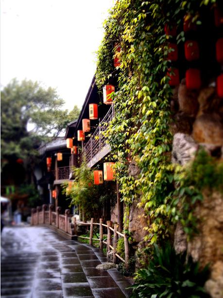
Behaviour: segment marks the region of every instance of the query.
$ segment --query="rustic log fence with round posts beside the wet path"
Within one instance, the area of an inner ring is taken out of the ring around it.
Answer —
[[[100,223],[94,223],[94,219],[91,218],[90,223],[83,223],[76,221],[74,218],[74,231],[77,231],[77,226],[90,226],[90,237],[83,237],[78,236],[82,239],[89,239],[89,244],[92,245],[93,241],[99,241],[99,248],[103,250],[103,245],[106,245],[106,251],[113,250],[113,263],[117,263],[117,258],[121,260],[121,262],[125,263],[125,267],[128,267],[129,263],[129,243],[128,243],[128,236],[122,234],[118,231],[118,225],[114,224],[114,228],[112,228],[112,221],[107,221],[107,225],[103,224],[103,219],[100,218]],[[94,226],[99,226],[99,239],[93,238],[93,228]],[[103,240],[103,227],[107,229],[107,241]],[[113,234],[113,241],[112,241],[112,234]],[[117,254],[117,242],[118,237],[124,238],[124,248],[125,248],[125,259],[121,258],[120,255]],[[112,245],[113,244],[113,245]]]

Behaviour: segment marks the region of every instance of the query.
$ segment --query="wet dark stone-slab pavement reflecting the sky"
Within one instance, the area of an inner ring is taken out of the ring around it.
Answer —
[[[95,269],[98,248],[66,240],[47,227],[5,227],[1,234],[1,298],[123,298],[127,280],[116,268]]]

